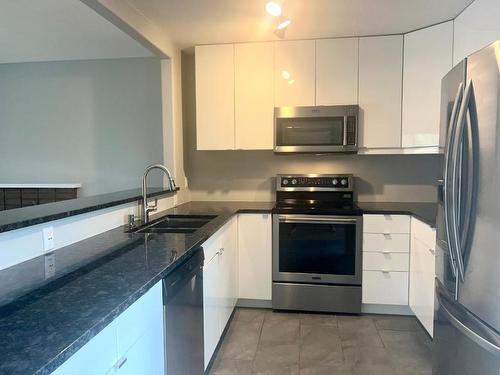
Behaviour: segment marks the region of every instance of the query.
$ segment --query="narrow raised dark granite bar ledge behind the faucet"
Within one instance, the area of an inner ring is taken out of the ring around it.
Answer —
[[[176,191],[177,190],[179,190],[179,188],[177,188]],[[172,193],[172,191],[166,190],[165,188],[148,189],[148,197]],[[80,215],[86,212],[102,210],[104,208],[138,201],[141,198],[141,189],[130,189],[114,193],[94,195],[91,197],[46,203],[38,206],[0,211],[0,233],[29,227],[31,225],[46,223],[48,221],[63,219],[65,217]]]

